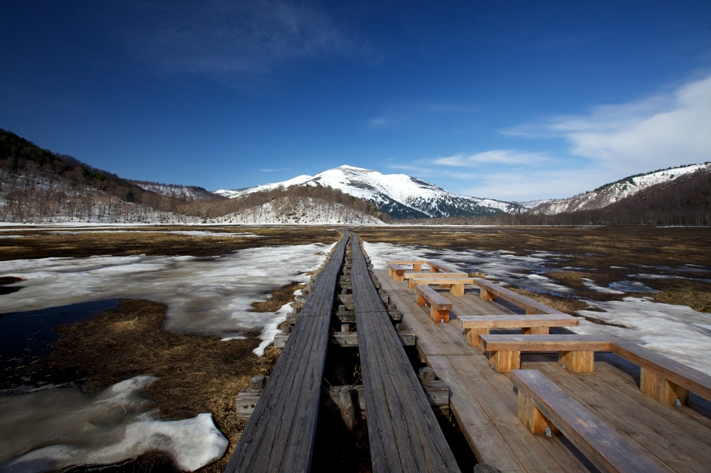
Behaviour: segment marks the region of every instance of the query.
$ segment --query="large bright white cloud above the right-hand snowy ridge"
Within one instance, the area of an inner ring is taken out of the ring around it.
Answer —
[[[502,134],[562,139],[567,151],[493,149],[427,163],[439,166],[434,175],[451,179],[449,189],[455,192],[523,201],[571,197],[627,175],[710,161],[711,76],[651,97],[599,105],[586,114],[555,116]],[[443,166],[466,173],[445,173]]]

